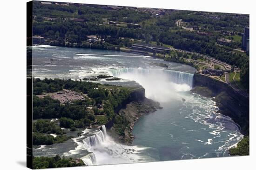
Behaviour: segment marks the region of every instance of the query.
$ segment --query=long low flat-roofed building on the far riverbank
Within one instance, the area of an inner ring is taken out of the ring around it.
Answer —
[[[136,43],[132,44],[132,49],[134,50],[140,50],[140,51],[147,51],[147,52],[162,52],[162,51],[169,51],[170,49],[168,47],[163,47],[159,45],[154,44],[144,44],[144,43]]]

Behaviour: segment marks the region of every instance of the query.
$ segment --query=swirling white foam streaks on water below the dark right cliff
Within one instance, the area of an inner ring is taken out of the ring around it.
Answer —
[[[240,127],[229,116],[219,113],[219,108],[216,106],[215,101],[207,97],[198,96],[198,94],[193,94],[186,99],[186,105],[191,106],[193,110],[186,118],[208,126],[209,129],[201,129],[208,131],[213,137],[207,139],[207,142],[204,143],[203,140],[197,141],[202,142],[204,145],[216,145],[216,155],[227,156],[229,148],[234,147],[243,138],[243,134],[239,132]],[[226,124],[228,128],[232,128],[231,132],[226,130]]]

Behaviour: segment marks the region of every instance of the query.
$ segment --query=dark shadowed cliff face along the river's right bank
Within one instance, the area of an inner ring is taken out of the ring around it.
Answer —
[[[193,92],[203,96],[216,97],[221,113],[228,115],[241,126],[241,133],[249,134],[249,98],[236,92],[228,84],[208,76],[194,74]]]

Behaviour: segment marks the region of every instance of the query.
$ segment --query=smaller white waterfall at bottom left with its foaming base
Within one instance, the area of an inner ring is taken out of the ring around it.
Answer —
[[[151,157],[143,156],[141,151],[147,147],[128,146],[116,143],[106,132],[105,126],[101,130],[86,129],[81,136],[74,138],[77,147],[65,153],[66,156],[81,154],[84,150],[87,155],[81,157],[86,165],[124,164],[153,161]]]

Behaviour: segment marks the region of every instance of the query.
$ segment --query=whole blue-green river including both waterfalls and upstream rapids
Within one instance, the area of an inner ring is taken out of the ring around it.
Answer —
[[[82,158],[87,165],[229,156],[228,149],[243,135],[233,120],[220,113],[215,101],[190,92],[194,72],[188,65],[121,51],[33,47],[36,78],[78,80],[107,74],[121,80],[98,82],[122,86],[140,84],[146,90],[145,96],[159,101],[163,107],[135,123],[133,146],[118,144],[103,127],[101,131],[85,129],[82,136],[69,141],[69,145],[34,149],[34,155],[58,153]],[[54,152],[50,152],[53,149]]]

